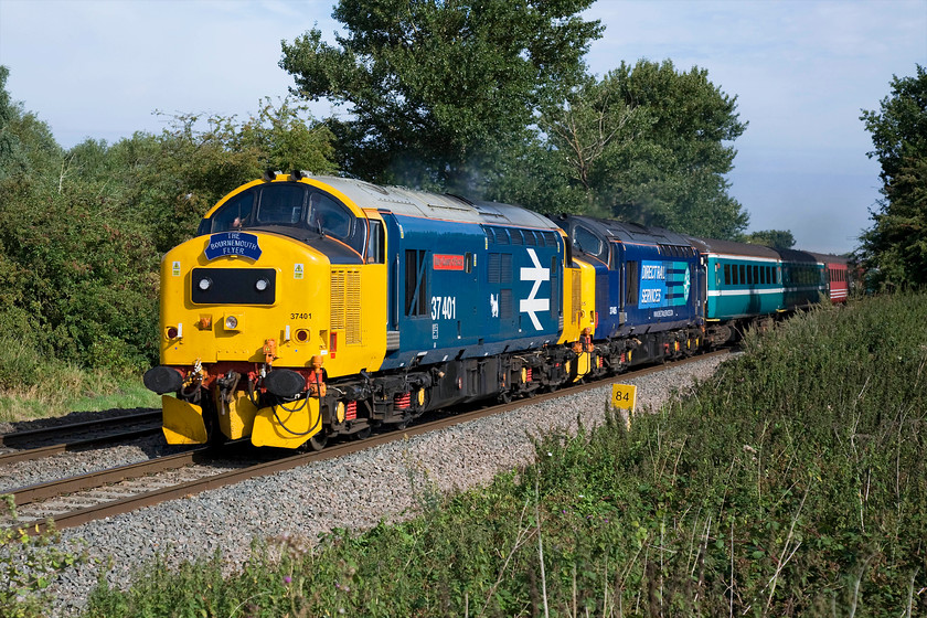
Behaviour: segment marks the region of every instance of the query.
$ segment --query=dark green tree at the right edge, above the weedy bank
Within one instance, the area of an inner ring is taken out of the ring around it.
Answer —
[[[876,287],[927,284],[927,71],[892,76],[892,94],[860,119],[882,166],[883,198],[856,257]]]

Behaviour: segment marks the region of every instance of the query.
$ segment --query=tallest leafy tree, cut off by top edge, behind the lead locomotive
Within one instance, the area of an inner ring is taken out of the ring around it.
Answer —
[[[350,104],[331,120],[343,169],[375,182],[479,192],[500,152],[582,76],[593,0],[341,0],[337,45],[283,42],[294,93]]]

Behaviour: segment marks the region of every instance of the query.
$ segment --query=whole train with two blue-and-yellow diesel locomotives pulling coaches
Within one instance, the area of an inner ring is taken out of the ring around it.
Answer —
[[[692,354],[817,301],[823,273],[800,252],[269,173],[164,256],[145,383],[169,444],[318,449]]]

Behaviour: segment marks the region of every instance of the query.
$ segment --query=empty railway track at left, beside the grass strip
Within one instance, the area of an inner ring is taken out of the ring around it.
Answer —
[[[0,465],[118,444],[150,436],[160,430],[161,412],[148,411],[0,434]]]

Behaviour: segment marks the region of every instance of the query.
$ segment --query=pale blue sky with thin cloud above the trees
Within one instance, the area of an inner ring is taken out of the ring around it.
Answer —
[[[288,94],[280,42],[339,23],[332,0],[0,0],[7,89],[65,148],[160,132],[173,114],[256,114]],[[749,232],[789,230],[796,246],[845,253],[872,226],[877,161],[860,120],[893,75],[927,66],[927,0],[598,0],[605,24],[586,62],[707,70],[748,127],[729,192]],[[312,107],[321,118],[341,108]],[[231,189],[231,188],[230,188]],[[683,231],[684,232],[684,231]]]

